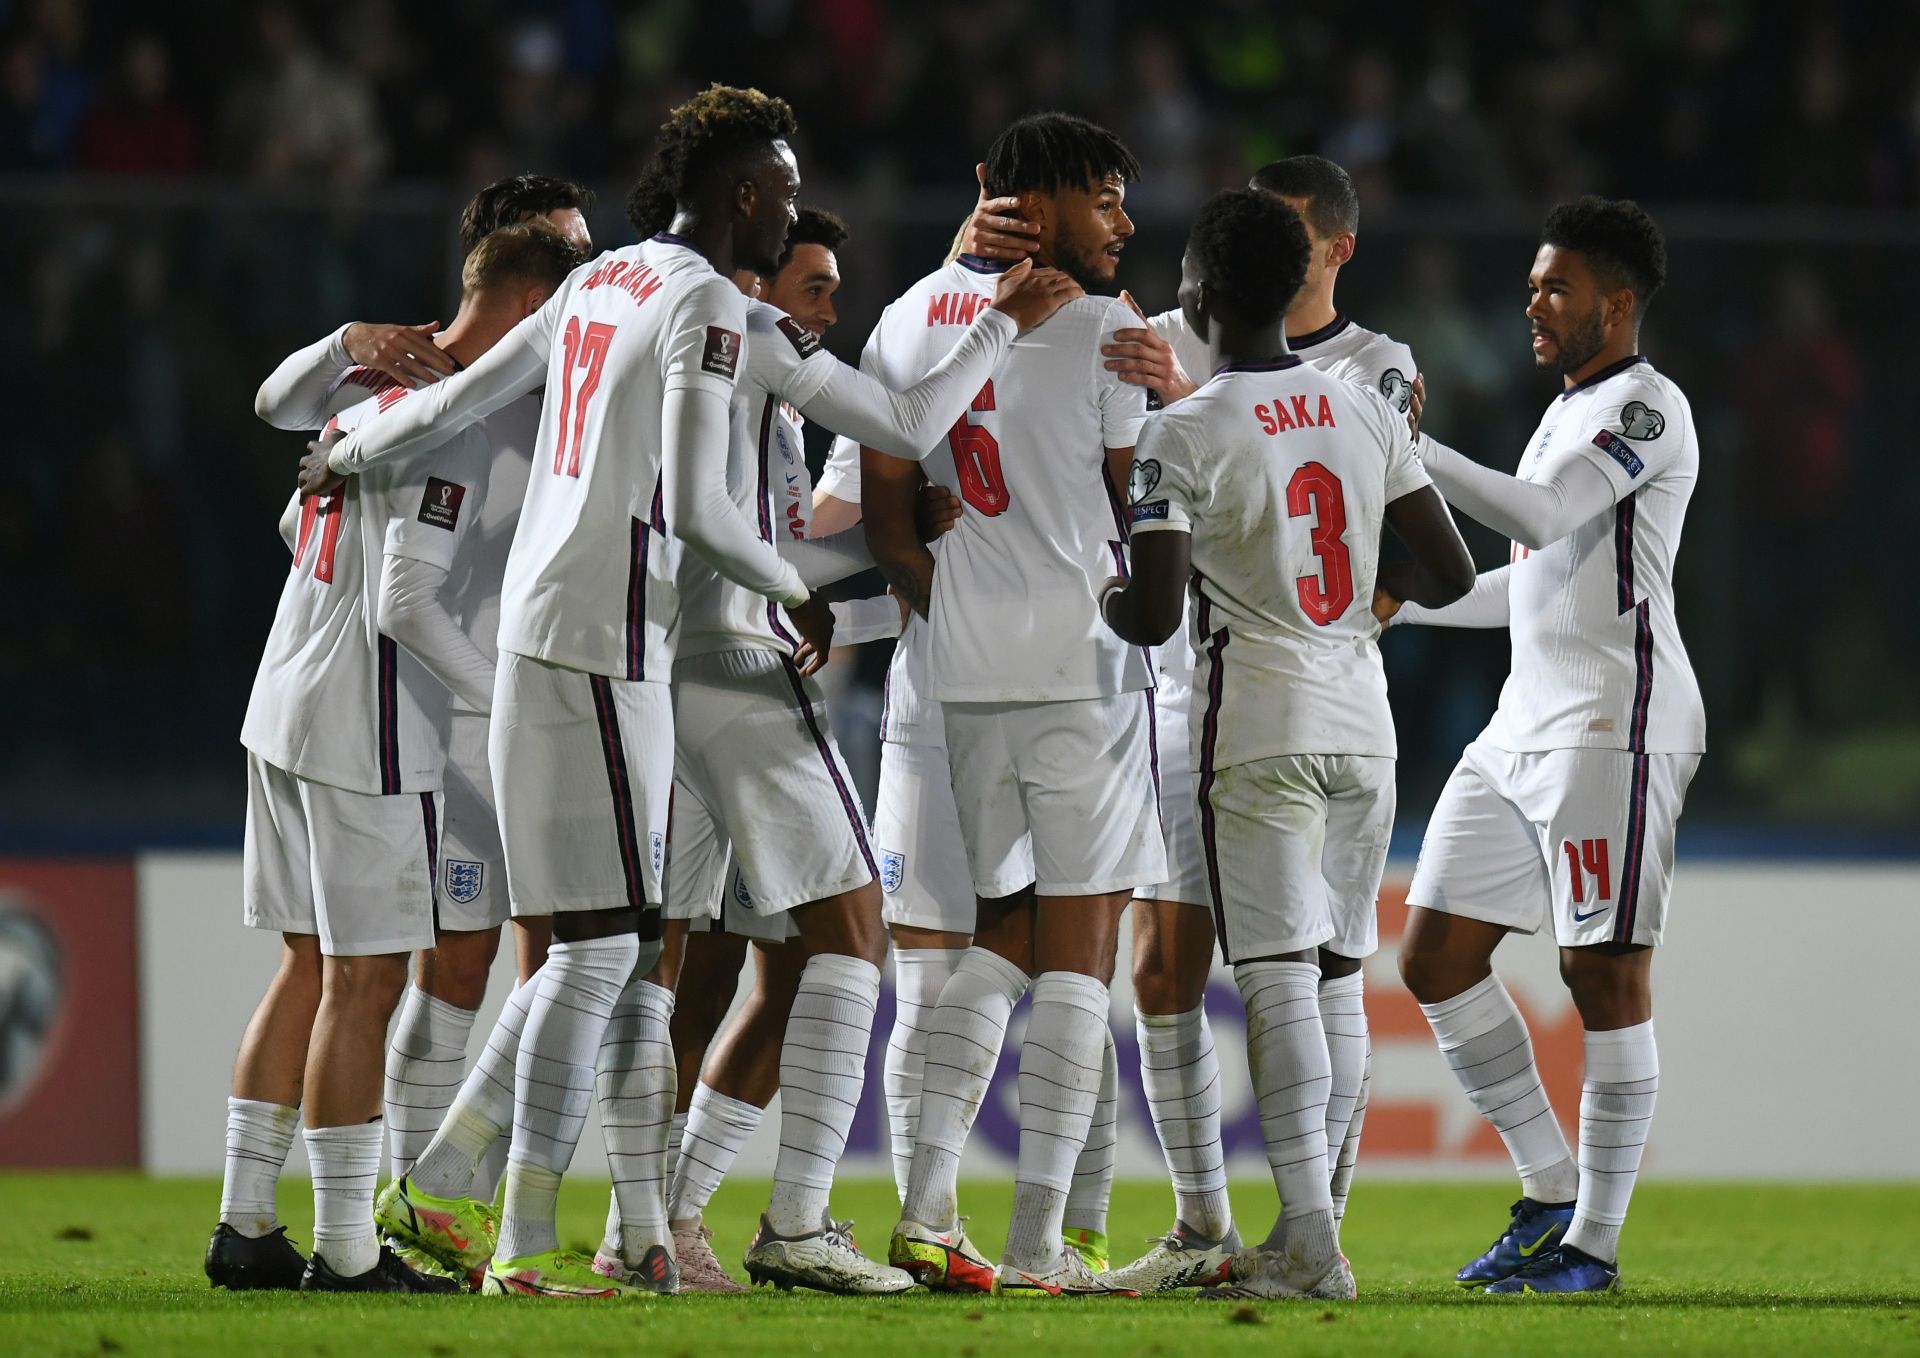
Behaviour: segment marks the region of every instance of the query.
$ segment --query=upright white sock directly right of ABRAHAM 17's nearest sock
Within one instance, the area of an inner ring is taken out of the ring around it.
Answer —
[[[637,1264],[666,1243],[666,1128],[674,1120],[674,993],[634,978],[607,1020],[599,1049],[599,1112],[612,1172],[609,1243]],[[618,1250],[616,1250],[618,1252]]]

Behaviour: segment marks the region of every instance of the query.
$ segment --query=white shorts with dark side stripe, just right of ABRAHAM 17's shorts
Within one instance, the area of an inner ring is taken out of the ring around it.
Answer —
[[[793,661],[772,651],[676,661],[674,722],[676,776],[733,841],[758,914],[879,876],[826,699]]]

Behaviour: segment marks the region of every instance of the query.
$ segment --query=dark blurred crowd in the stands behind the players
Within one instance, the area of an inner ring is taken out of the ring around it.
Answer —
[[[1150,309],[1208,192],[1325,154],[1361,192],[1344,309],[1413,348],[1428,428],[1496,467],[1551,394],[1521,317],[1538,219],[1640,198],[1672,252],[1644,348],[1703,442],[1690,824],[1920,818],[1920,626],[1895,584],[1920,509],[1910,6],[0,0],[0,841],[236,839],[300,451],[253,388],[344,321],[449,321],[455,213],[499,175],[593,184],[597,244],[626,244],[653,129],[710,79],[801,117],[803,198],[854,229],[847,359],[1020,113],[1085,113],[1140,156],[1121,282]],[[1384,651],[1417,830],[1507,643],[1409,628]]]

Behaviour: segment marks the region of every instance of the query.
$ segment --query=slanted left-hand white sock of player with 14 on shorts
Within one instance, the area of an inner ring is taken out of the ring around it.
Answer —
[[[1536,1202],[1572,1202],[1580,1179],[1548,1091],[1534,1068],[1526,1020],[1498,976],[1438,1005],[1421,1005],[1440,1055],[1467,1099],[1507,1143],[1521,1193]]]

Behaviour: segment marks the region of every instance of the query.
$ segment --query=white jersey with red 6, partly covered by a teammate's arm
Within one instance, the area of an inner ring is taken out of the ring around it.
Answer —
[[[897,390],[952,350],[993,298],[998,267],[948,263],[887,307],[874,334]],[[1018,338],[973,407],[925,459],[966,509],[937,547],[924,697],[1046,703],[1152,686],[1144,653],[1100,620],[1100,584],[1125,570],[1106,449],[1131,448],[1146,392],[1108,373],[1100,344],[1139,319],[1077,298]]]

